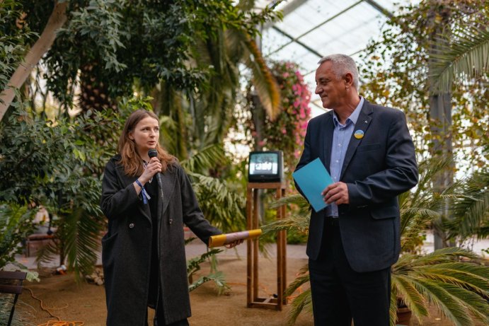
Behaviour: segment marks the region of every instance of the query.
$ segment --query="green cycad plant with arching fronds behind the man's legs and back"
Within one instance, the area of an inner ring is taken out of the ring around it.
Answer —
[[[432,177],[447,168],[449,162],[432,160],[420,164],[420,182],[415,190],[399,197],[401,207],[401,257],[392,266],[391,325],[396,325],[398,303],[403,303],[418,320],[428,315],[428,306],[435,305],[454,325],[474,325],[473,320],[489,323],[489,267],[478,263],[478,256],[461,248],[444,248],[427,255],[416,253],[422,233],[439,217],[438,207],[454,198],[454,188],[442,194],[430,191]],[[277,205],[296,204],[304,208],[306,200],[299,195],[286,197]],[[309,213],[299,213],[265,226],[264,231],[287,229],[306,230]],[[307,266],[286,290],[290,296],[309,283]],[[289,325],[299,314],[312,312],[311,292],[299,294],[292,301]]]

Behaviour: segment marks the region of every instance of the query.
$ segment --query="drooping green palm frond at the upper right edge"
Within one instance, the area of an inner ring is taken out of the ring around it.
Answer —
[[[438,49],[430,76],[435,90],[442,93],[450,91],[454,78],[478,78],[487,73],[489,66],[489,28],[461,26],[450,38],[454,40],[450,45],[444,45],[444,35],[434,40]]]

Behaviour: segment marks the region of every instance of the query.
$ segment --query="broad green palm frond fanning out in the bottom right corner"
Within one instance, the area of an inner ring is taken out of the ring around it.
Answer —
[[[459,257],[478,258],[468,250],[444,248],[428,255],[405,254],[393,264],[393,289],[418,319],[426,315],[428,302],[456,325],[472,325],[465,324],[471,318],[467,311],[479,320],[487,314],[489,269],[458,262]]]

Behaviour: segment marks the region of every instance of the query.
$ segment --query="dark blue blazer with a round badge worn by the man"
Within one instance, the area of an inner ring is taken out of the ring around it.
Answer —
[[[309,121],[296,170],[320,158],[329,171],[333,129],[333,110]],[[352,134],[340,175],[340,181],[347,184],[350,204],[341,204],[338,212],[350,266],[356,272],[371,272],[398,260],[401,241],[397,196],[418,183],[418,165],[401,110],[365,100],[354,133],[357,130],[362,130],[364,136],[356,139]],[[311,260],[318,258],[321,248],[325,211],[311,213],[306,250]]]

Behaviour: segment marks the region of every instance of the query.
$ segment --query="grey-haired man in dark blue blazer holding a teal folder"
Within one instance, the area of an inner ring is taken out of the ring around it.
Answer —
[[[329,205],[312,212],[309,226],[314,325],[389,326],[397,196],[418,182],[413,140],[403,112],[358,95],[352,58],[333,54],[319,64],[316,94],[333,110],[309,121],[296,168],[320,158],[333,179],[322,192]]]

